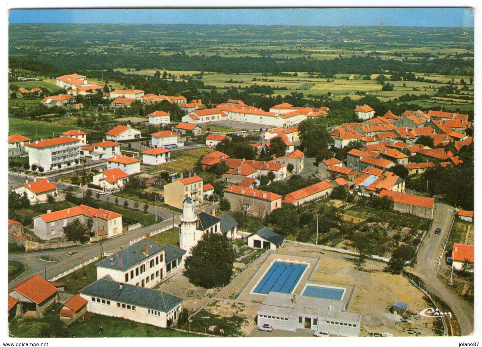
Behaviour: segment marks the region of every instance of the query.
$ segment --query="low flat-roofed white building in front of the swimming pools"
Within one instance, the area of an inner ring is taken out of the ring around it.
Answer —
[[[295,331],[310,329],[338,336],[358,336],[362,314],[346,311],[346,302],[270,291],[257,311],[258,326]]]

